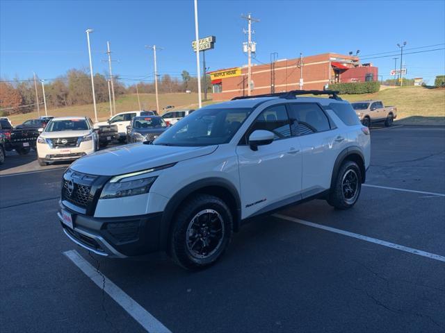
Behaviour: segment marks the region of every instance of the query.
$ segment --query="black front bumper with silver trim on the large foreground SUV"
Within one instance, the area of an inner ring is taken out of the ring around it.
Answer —
[[[117,218],[95,218],[70,210],[60,202],[60,210],[70,212],[73,229],[63,223],[63,232],[77,245],[97,255],[125,258],[160,250],[162,212]]]

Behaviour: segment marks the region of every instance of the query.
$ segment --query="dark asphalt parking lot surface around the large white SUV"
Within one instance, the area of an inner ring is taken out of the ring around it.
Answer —
[[[445,128],[375,128],[371,140],[352,210],[314,200],[254,221],[198,273],[162,253],[123,261],[77,247],[56,217],[67,164],[8,156],[1,330],[445,332]]]

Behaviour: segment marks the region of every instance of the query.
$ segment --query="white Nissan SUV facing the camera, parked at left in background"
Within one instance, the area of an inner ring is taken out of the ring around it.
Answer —
[[[53,118],[37,139],[38,163],[76,160],[97,151],[97,134],[87,117]]]

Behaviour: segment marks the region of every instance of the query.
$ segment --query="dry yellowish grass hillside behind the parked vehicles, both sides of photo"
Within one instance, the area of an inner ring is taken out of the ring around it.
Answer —
[[[156,108],[156,99],[154,94],[140,94],[140,104],[145,110]],[[366,99],[380,99],[385,105],[396,106],[398,111],[397,122],[403,124],[420,125],[445,125],[445,89],[427,87],[396,87],[391,89],[382,89],[375,94],[343,95],[343,99],[354,102]],[[209,94],[211,99],[211,94]],[[204,102],[216,103],[213,101]],[[197,108],[197,94],[160,94],[159,107],[166,105],[175,105],[179,108]],[[116,100],[116,112],[138,110],[138,98],[136,94],[121,96]],[[105,120],[110,117],[110,106],[108,103],[97,104],[99,120]],[[40,113],[44,110],[40,108]],[[48,114],[55,117],[61,116],[82,116],[86,115],[94,121],[94,110],[91,105],[79,105],[67,108],[51,109]],[[27,114],[15,114],[10,117],[15,125],[22,123],[26,119],[37,117],[37,112]]]

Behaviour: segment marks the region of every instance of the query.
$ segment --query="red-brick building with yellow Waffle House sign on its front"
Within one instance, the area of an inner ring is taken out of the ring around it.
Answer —
[[[300,58],[252,66],[252,94],[300,89],[300,71]],[[247,67],[220,69],[209,74],[213,100],[222,101],[248,94]],[[329,83],[378,80],[378,68],[372,64],[361,65],[357,56],[323,53],[302,58],[302,78],[303,89],[323,89]]]

